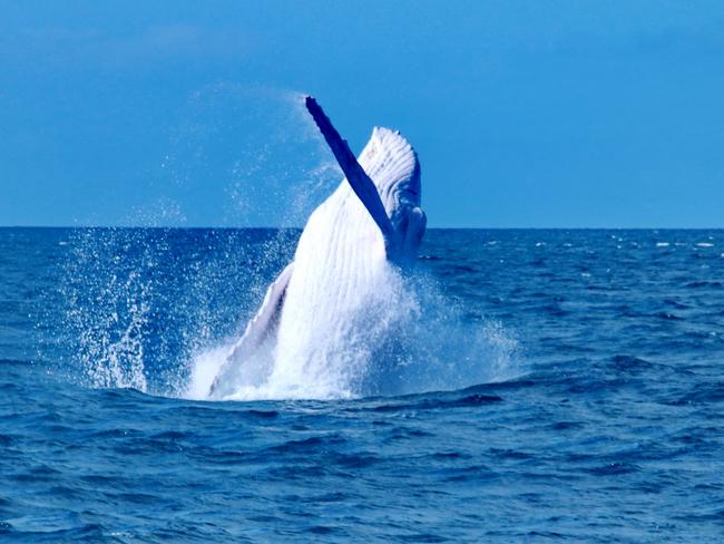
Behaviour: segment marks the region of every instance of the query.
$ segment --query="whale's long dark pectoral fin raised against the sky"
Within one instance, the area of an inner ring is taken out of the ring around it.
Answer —
[[[364,204],[364,207],[370,212],[380,231],[382,231],[385,245],[389,247],[394,237],[394,227],[390,217],[388,217],[374,182],[370,179],[364,168],[358,163],[346,140],[342,139],[342,136],[332,126],[330,118],[324,114],[316,100],[307,96],[305,104],[306,109],[312,114],[316,126],[320,127],[324,139],[332,149],[336,162],[340,163],[342,172],[352,186],[352,191],[354,191],[354,194],[358,195],[362,204]]]

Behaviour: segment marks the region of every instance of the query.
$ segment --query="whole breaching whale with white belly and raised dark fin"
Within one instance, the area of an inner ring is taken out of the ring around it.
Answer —
[[[264,379],[290,396],[302,382],[324,391],[343,380],[340,358],[353,365],[349,344],[365,336],[362,318],[384,303],[391,272],[413,262],[424,233],[420,164],[404,137],[375,127],[355,158],[316,100],[306,97],[305,105],[345,178],[311,214],[294,260],[268,286],[214,378],[212,398],[235,392],[262,347],[273,360]]]

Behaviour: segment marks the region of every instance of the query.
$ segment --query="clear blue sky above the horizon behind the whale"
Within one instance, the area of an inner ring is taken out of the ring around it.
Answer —
[[[724,226],[724,2],[0,2],[0,225],[302,224],[400,129],[431,226]]]

